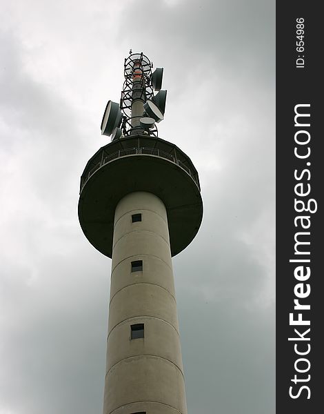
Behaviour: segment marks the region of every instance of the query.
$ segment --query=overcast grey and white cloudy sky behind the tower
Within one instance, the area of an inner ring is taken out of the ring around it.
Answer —
[[[189,414],[274,413],[274,0],[0,0],[0,414],[102,411],[110,259],[79,177],[123,60],[164,67],[159,136],[199,171],[174,258]]]

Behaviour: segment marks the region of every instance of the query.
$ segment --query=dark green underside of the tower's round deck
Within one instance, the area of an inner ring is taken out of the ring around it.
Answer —
[[[172,256],[192,242],[203,217],[198,186],[181,167],[153,155],[129,155],[103,165],[88,179],[79,199],[79,221],[89,242],[112,257],[114,210],[135,191],[159,197],[168,213]]]

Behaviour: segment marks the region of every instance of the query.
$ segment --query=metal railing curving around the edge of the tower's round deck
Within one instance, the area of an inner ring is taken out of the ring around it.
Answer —
[[[192,177],[192,179],[194,180],[196,185],[199,187],[199,182],[196,179],[196,175],[192,172],[192,170],[190,170],[190,168],[188,166],[185,166],[183,164],[183,162],[179,161],[179,159],[176,159],[173,155],[168,154],[168,152],[164,152],[162,150],[159,150],[159,148],[140,147],[140,148],[127,148],[125,150],[118,150],[118,151],[113,152],[112,154],[107,155],[106,157],[104,157],[102,159],[102,161],[99,161],[94,167],[92,167],[87,172],[87,174],[85,175],[84,178],[81,177],[80,193],[83,190],[83,187],[85,186],[88,179],[90,179],[90,177],[94,174],[94,172],[99,170],[100,167],[104,166],[108,162],[113,161],[114,159],[121,158],[121,157],[128,157],[130,155],[137,155],[137,154],[154,155],[154,157],[161,157],[161,158],[164,158],[164,159],[168,159],[169,161],[172,161],[174,164],[178,165],[180,168],[185,170],[185,172],[187,172],[190,175],[190,177]]]

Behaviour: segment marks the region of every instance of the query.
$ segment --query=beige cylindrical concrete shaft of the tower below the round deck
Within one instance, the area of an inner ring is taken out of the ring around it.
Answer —
[[[136,192],[119,201],[112,251],[103,413],[185,414],[168,216],[158,197]],[[132,339],[139,324],[143,337]]]

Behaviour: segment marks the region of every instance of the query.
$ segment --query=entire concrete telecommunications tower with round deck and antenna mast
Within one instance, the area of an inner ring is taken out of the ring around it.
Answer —
[[[157,136],[163,69],[131,54],[124,75],[101,124],[112,141],[85,166],[79,198],[85,237],[112,258],[103,414],[186,414],[172,256],[201,225],[199,177]]]

